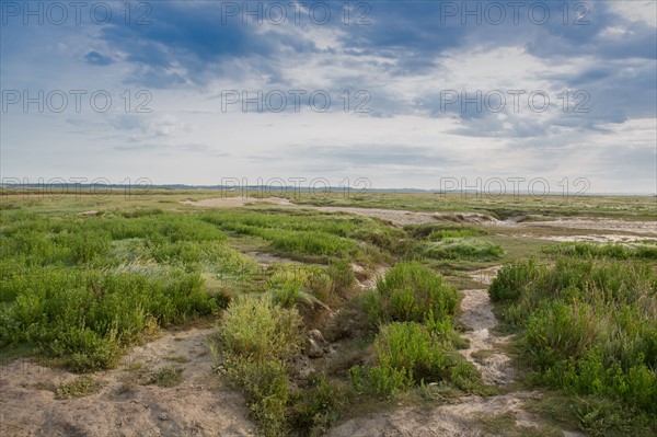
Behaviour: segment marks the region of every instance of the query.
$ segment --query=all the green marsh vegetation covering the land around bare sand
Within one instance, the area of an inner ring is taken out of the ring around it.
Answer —
[[[227,209],[181,203],[189,197],[199,195],[3,199],[2,354],[102,375],[163,330],[212,325],[212,378],[244,394],[260,432],[316,436],[397,404],[437,406],[512,390],[484,382],[479,370],[506,349],[470,350],[472,360],[462,350],[472,327],[460,314],[461,290],[483,287],[469,274],[503,265],[489,287],[497,330],[514,334],[508,347],[521,370],[514,387],[546,390],[528,403],[544,435],[555,427],[604,436],[657,430],[650,238],[555,243],[545,238],[565,231],[532,220],[523,233],[449,214],[402,226],[310,205],[443,207],[496,220],[581,214],[580,205],[554,199],[445,205],[431,195],[395,194]],[[603,217],[647,215],[643,202],[629,203],[630,210],[621,204],[601,198],[592,209]],[[174,387],[194,360],[170,354],[142,379]],[[95,377],[80,376],[58,386],[57,396],[99,387]],[[577,413],[558,422],[554,411],[564,402]],[[476,426],[491,432],[509,414]]]

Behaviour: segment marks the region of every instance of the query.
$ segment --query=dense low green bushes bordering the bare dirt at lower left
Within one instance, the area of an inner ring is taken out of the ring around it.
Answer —
[[[33,343],[76,371],[111,368],[145,332],[217,308],[198,275],[176,269],[31,267],[18,284],[14,301],[0,309],[0,344]]]

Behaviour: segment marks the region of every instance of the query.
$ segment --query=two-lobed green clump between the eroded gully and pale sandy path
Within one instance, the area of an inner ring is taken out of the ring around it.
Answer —
[[[373,363],[349,370],[356,391],[390,399],[438,381],[463,391],[480,387],[479,372],[454,350],[462,343],[451,323],[457,302],[457,289],[417,262],[388,271],[367,298],[380,332]]]

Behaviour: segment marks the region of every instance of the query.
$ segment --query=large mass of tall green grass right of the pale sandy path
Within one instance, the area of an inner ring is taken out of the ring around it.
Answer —
[[[657,276],[649,265],[558,258],[505,266],[491,285],[521,332],[531,381],[624,404],[657,429]],[[603,428],[604,412],[599,419]],[[650,419],[653,417],[653,419]]]

